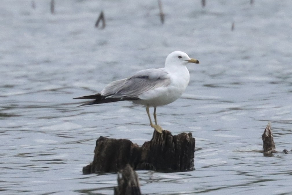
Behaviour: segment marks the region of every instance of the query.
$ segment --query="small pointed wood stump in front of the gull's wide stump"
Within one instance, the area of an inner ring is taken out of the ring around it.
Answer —
[[[114,187],[114,195],[141,195],[137,173],[127,164],[118,174],[118,186]]]

